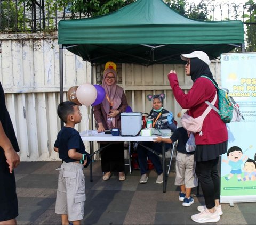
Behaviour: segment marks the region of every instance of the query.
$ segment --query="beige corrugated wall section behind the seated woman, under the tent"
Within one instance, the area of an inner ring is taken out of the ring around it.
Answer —
[[[212,62],[210,69],[214,78],[220,84],[220,62]],[[173,112],[174,118],[177,118],[181,110],[180,105],[175,101],[167,74],[170,70],[175,70],[178,74],[180,87],[186,92],[190,89],[193,81],[190,76],[185,75],[184,65],[152,65],[141,66],[134,64],[122,64],[122,86],[126,90],[128,104],[132,107],[133,112],[150,112],[152,104],[147,99],[148,94],[166,95],[163,106],[165,109]],[[134,80],[133,80],[134,79]]]

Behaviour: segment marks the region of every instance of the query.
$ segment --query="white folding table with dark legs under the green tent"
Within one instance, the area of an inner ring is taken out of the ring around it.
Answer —
[[[152,136],[113,136],[111,134],[105,134],[104,132],[98,133],[97,130],[88,130],[83,131],[80,133],[80,136],[83,141],[128,141],[129,142],[129,148],[130,148],[130,141],[153,141],[153,138],[156,138],[156,135]],[[170,136],[164,136],[163,138],[170,138]],[[142,144],[143,146],[143,144]],[[148,149],[148,148],[147,148]],[[163,162],[163,192],[166,191],[166,183],[167,183],[167,173],[166,173],[166,164],[165,164],[165,143],[163,143],[163,152],[162,152],[162,162]],[[148,149],[151,152],[155,153],[154,149]],[[98,151],[92,152],[92,149],[90,148],[90,155],[94,155],[98,152],[100,152],[101,149]],[[129,154],[131,154],[129,149]],[[129,156],[130,157],[130,156]],[[130,159],[129,159],[130,160]],[[131,165],[131,163],[130,163]],[[92,182],[92,163],[90,164],[90,178]]]

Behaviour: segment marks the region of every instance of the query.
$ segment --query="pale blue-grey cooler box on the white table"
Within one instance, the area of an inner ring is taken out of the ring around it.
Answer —
[[[121,136],[137,136],[142,128],[141,113],[121,113]]]

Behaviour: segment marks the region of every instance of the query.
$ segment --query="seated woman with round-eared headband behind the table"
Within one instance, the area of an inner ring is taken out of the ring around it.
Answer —
[[[152,110],[149,113],[149,116],[153,118],[153,127],[155,129],[171,129],[172,132],[177,128],[177,126],[174,123],[174,118],[171,112],[168,110],[165,110],[163,108],[163,99],[165,98],[165,94],[159,94],[159,95],[147,95],[147,98],[149,101],[152,102]],[[154,149],[155,152],[162,154],[162,143],[155,143],[153,141],[143,141],[143,146],[149,147],[151,149]],[[157,173],[157,179],[156,184],[162,184],[163,183],[163,168],[161,161],[159,157],[148,151],[145,147],[141,145],[138,145],[137,147],[137,153],[138,153],[138,160],[140,165],[140,184],[144,184],[148,180],[148,174],[147,174],[147,157],[152,161],[156,173]],[[171,147],[171,144],[166,144],[166,151]]]

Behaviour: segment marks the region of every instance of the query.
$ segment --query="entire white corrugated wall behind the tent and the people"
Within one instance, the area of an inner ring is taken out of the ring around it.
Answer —
[[[21,161],[60,160],[53,145],[60,130],[57,115],[59,104],[59,46],[57,34],[47,35],[0,35],[0,81],[6,106],[21,149]],[[111,59],[110,59],[111,60]],[[64,91],[71,86],[91,83],[91,65],[81,57],[63,51]],[[104,65],[93,67],[93,84],[101,80]],[[179,84],[185,91],[192,85],[185,76],[183,65],[118,64],[118,84],[127,96],[134,112],[150,112],[148,94],[165,93],[164,107],[177,118],[180,111],[167,79],[170,70],[178,73]],[[97,73],[96,73],[97,71]],[[220,84],[220,62],[211,63],[211,71]],[[66,92],[64,101],[67,100]],[[78,131],[92,129],[91,106],[82,106],[82,121]],[[89,144],[85,143],[89,152]],[[94,149],[98,148],[94,143]],[[96,157],[97,159],[97,157]]]

